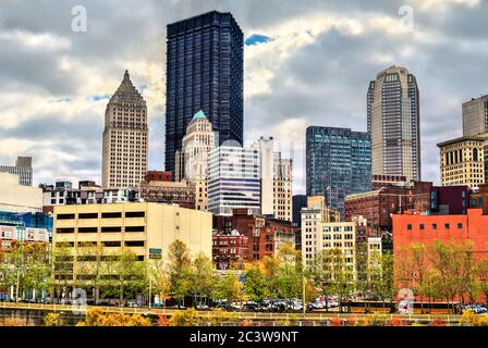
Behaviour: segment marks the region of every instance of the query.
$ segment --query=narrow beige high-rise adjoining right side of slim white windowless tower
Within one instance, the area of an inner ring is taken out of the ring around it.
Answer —
[[[274,154],[273,211],[279,220],[293,220],[293,161]]]

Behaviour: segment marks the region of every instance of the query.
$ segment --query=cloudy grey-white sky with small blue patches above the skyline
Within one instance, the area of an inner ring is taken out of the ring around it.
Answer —
[[[105,109],[129,70],[148,104],[149,169],[162,170],[166,26],[211,10],[244,32],[245,145],[272,136],[294,160],[294,194],[306,127],[366,130],[383,69],[417,78],[422,178],[436,184],[436,145],[462,135],[464,101],[488,94],[487,0],[1,0],[0,164],[32,156],[35,185],[100,182]]]

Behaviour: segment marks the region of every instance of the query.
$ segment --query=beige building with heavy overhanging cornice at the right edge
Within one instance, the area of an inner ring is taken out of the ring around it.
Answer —
[[[488,134],[465,136],[438,144],[442,186],[478,187],[485,183],[485,148]]]

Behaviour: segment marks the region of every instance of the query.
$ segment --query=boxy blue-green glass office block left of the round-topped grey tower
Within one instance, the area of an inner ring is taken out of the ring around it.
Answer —
[[[306,130],[307,196],[324,195],[330,209],[344,216],[347,195],[371,188],[369,134],[347,128],[308,127]]]

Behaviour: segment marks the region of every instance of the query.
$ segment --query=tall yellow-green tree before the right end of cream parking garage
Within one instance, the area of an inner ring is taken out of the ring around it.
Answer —
[[[181,307],[182,301],[184,304],[186,294],[188,294],[192,275],[192,261],[186,245],[181,240],[173,241],[169,247],[168,259],[171,294],[178,300],[178,307]]]

